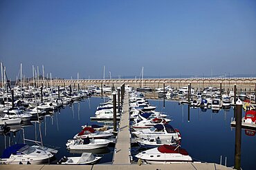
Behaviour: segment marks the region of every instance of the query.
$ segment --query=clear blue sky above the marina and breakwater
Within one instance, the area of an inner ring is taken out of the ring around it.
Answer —
[[[0,1],[0,61],[53,77],[255,74],[256,1]]]

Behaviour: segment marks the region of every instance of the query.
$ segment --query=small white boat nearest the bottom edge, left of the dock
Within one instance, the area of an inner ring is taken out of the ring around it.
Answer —
[[[63,157],[58,164],[95,164],[102,156],[94,156],[93,153],[82,153],[79,157]]]

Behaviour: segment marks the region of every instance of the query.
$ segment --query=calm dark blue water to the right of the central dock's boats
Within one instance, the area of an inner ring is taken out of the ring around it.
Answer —
[[[188,122],[188,105],[165,101],[163,109],[162,100],[149,100],[149,103],[171,116],[173,121],[170,124],[181,131],[181,147],[187,149],[192,158],[219,164],[222,156],[222,164],[225,164],[227,157],[227,166],[234,166],[235,129],[230,127],[234,116],[232,107],[229,111],[220,110],[219,113],[212,113],[211,109],[204,112],[200,108],[190,108]],[[255,169],[256,136],[247,136],[244,129],[241,133],[241,167],[244,170]]]

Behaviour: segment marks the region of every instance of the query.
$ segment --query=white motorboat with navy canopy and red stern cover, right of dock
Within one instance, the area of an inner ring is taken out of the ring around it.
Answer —
[[[132,132],[138,138],[160,138],[160,139],[171,139],[172,137],[174,140],[181,140],[181,134],[179,133],[178,129],[174,129],[171,125],[154,125],[150,129],[142,129],[140,131]]]

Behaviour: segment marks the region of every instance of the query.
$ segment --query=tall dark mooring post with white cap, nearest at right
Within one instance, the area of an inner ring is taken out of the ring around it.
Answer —
[[[241,100],[236,103],[236,123],[235,123],[235,169],[241,168]]]

